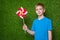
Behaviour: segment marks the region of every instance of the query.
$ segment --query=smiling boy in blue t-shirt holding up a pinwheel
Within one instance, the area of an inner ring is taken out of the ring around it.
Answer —
[[[27,25],[23,25],[23,30],[34,35],[34,40],[52,40],[51,20],[44,16],[45,7],[42,3],[35,6],[38,18],[33,21],[32,28],[29,30]]]

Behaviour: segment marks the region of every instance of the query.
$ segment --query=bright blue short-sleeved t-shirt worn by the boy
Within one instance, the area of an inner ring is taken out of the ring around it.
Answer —
[[[35,19],[31,30],[35,32],[34,40],[48,40],[48,31],[52,30],[52,22],[47,17],[41,20]]]

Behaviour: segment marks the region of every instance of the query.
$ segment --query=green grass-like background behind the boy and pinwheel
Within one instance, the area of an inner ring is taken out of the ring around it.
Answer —
[[[45,16],[53,23],[53,40],[60,40],[60,0],[0,0],[0,40],[33,40],[33,36],[22,30],[22,19],[17,17],[19,7],[27,9],[25,23],[29,29],[37,17],[35,4],[43,3]]]

